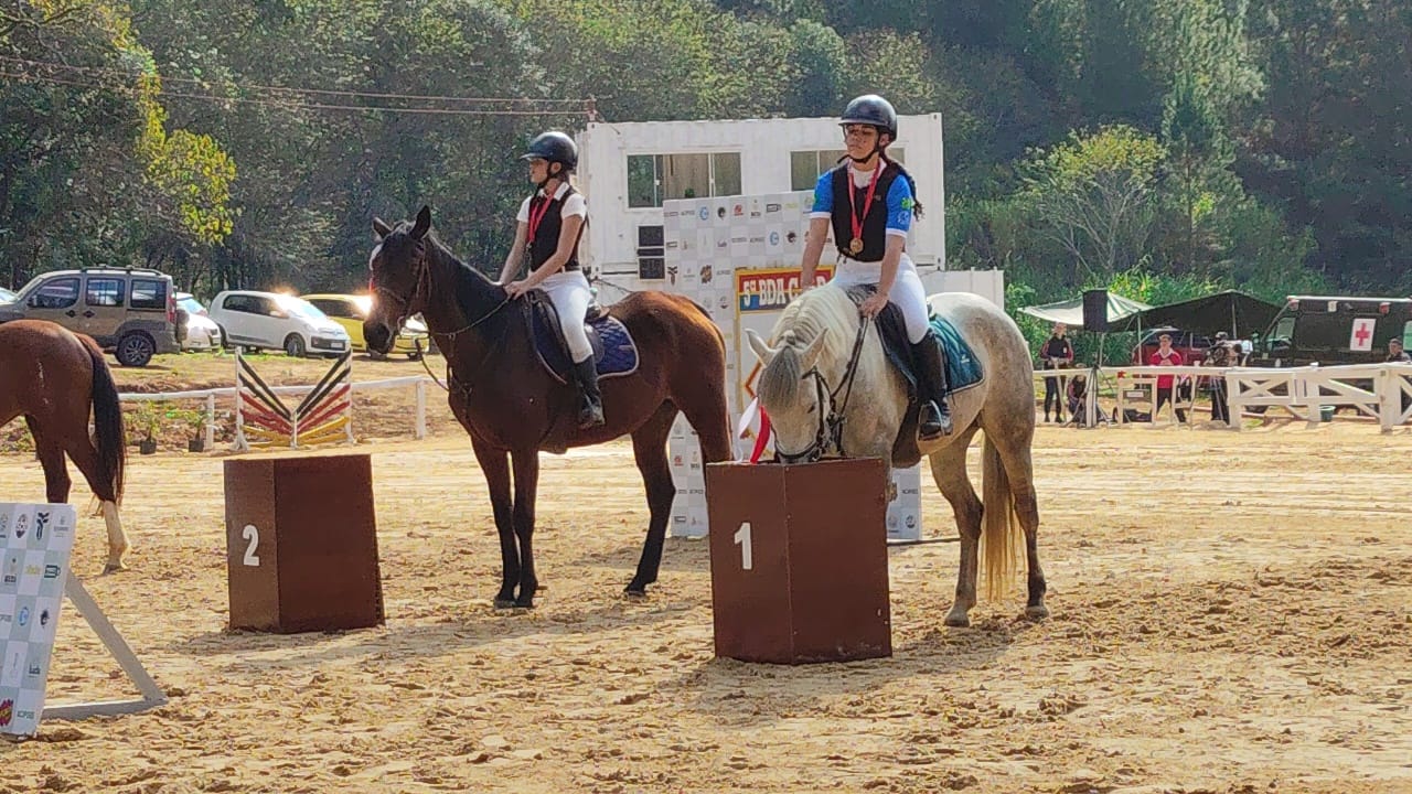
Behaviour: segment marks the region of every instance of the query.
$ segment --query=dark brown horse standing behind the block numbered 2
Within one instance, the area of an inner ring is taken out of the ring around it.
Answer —
[[[470,434],[500,531],[504,579],[496,606],[534,606],[538,581],[531,538],[539,451],[562,454],[624,434],[633,437],[651,510],[637,575],[626,592],[644,595],[657,581],[676,496],[666,437],[678,411],[696,429],[705,461],[730,456],[720,331],[705,309],[679,295],[635,292],[616,304],[610,314],[631,332],[638,367],[631,376],[602,381],[607,422],[579,429],[576,390],[538,360],[527,301],[510,301],[498,284],[452,256],[429,233],[431,223],[426,206],[415,223],[404,220],[395,229],[373,219],[377,246],[370,267],[377,300],[363,335],[370,349],[385,352],[401,324],[421,312],[446,356],[450,410]]]

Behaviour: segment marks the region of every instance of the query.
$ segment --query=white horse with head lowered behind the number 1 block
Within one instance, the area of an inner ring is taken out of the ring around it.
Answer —
[[[987,596],[994,600],[1010,589],[1015,574],[1014,535],[1019,530],[1025,534],[1029,589],[1025,615],[1042,619],[1049,610],[1039,567],[1039,509],[1029,452],[1035,435],[1029,350],[1015,322],[977,295],[942,292],[931,297],[931,307],[970,345],[984,379],[952,394],[956,429],[929,442],[916,441],[916,417],[908,415],[907,380],[888,362],[873,324],[864,328],[849,384],[846,376],[861,321],[857,305],[842,287],[830,283],[795,298],[768,343],[747,329],[750,346],[764,365],[757,394],[774,425],[775,454],[784,462],[823,455],[881,458],[894,468],[912,466],[921,455],[928,455],[932,478],[952,504],[962,538],[956,603],[946,615],[946,624],[970,624],[981,540]],[[966,475],[966,449],[979,429],[986,431],[984,502],[977,499]]]

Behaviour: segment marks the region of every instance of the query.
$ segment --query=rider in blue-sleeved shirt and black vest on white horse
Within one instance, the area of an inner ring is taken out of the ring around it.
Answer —
[[[819,177],[815,186],[801,283],[805,288],[813,285],[832,225],[839,249],[833,280],[840,287],[877,287],[858,311],[874,318],[890,301],[902,309],[919,379],[918,435],[923,441],[949,435],[952,415],[946,404],[942,348],[931,332],[922,280],[907,256],[912,215],[921,216],[922,205],[916,202],[912,175],[885,154],[888,144],[897,140],[897,112],[888,100],[870,93],[849,103],[839,126],[849,154]]]

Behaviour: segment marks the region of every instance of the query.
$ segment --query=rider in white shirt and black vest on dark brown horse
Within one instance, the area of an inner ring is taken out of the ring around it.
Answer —
[[[583,328],[593,290],[579,267],[579,237],[587,222],[589,208],[583,194],[569,184],[569,174],[579,164],[579,148],[569,136],[548,131],[531,141],[520,160],[530,161],[530,181],[539,189],[520,205],[515,242],[500,271],[500,284],[510,298],[518,298],[537,287],[549,297],[569,348],[573,374],[583,391],[579,427],[597,427],[603,424],[603,398],[593,363],[593,346]],[[521,253],[530,256],[530,274],[511,281],[520,274]]]

